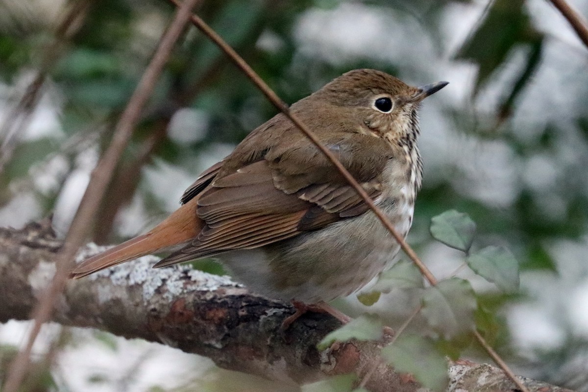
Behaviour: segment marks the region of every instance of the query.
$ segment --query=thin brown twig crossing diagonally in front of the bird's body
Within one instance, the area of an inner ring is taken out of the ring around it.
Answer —
[[[179,6],[178,0],[168,0],[168,1],[171,2],[172,4],[174,4],[175,6]],[[419,270],[423,274],[423,276],[425,276],[425,278],[429,281],[429,283],[432,286],[435,286],[437,284],[437,279],[435,278],[435,276],[433,276],[433,273],[430,272],[430,270],[425,266],[425,264],[422,262],[422,260],[419,259],[419,256],[417,256],[416,252],[409,246],[409,244],[406,243],[406,241],[403,239],[403,237],[400,236],[400,234],[396,231],[396,229],[392,225],[392,223],[390,223],[390,220],[387,219],[387,217],[384,215],[382,210],[380,210],[375,205],[375,203],[369,197],[368,193],[366,193],[365,190],[363,190],[362,186],[360,186],[359,183],[355,180],[355,178],[353,178],[353,176],[348,172],[348,170],[345,169],[345,166],[343,166],[341,164],[341,162],[339,162],[339,160],[336,158],[336,156],[333,155],[333,153],[330,152],[329,149],[327,149],[325,146],[323,146],[323,144],[316,137],[316,135],[310,129],[308,129],[298,119],[297,116],[293,115],[290,112],[288,105],[286,105],[286,103],[283,102],[283,100],[280,99],[278,97],[278,95],[276,95],[276,93],[273,92],[273,90],[269,88],[269,86],[263,81],[263,79],[261,79],[255,71],[253,71],[253,69],[248,65],[248,63],[246,63],[245,60],[243,60],[243,58],[241,56],[239,56],[238,53],[235,52],[235,50],[233,50],[233,48],[231,48],[228,43],[226,43],[210,26],[208,26],[206,24],[206,22],[204,22],[201,18],[199,18],[199,16],[192,15],[192,23],[202,33],[204,33],[206,36],[208,36],[208,38],[210,38],[211,41],[214,42],[220,48],[220,50],[225,52],[226,55],[229,56],[230,61],[235,63],[235,65],[238,66],[238,68],[241,71],[243,71],[243,73],[245,73],[245,75],[253,83],[255,83],[256,86],[258,86],[258,88],[263,93],[263,95],[265,95],[270,100],[270,102],[272,102],[272,104],[274,106],[276,106],[276,108],[278,108],[278,110],[280,110],[280,112],[282,112],[286,117],[288,117],[290,119],[290,121],[292,121],[294,123],[294,125],[296,125],[296,127],[298,127],[298,129],[300,129],[300,131],[303,132],[315,144],[315,146],[330,160],[330,162],[332,162],[333,165],[335,165],[335,167],[337,168],[339,173],[343,177],[345,177],[345,179],[349,183],[349,185],[351,185],[353,187],[353,189],[355,189],[355,191],[358,192],[358,195],[360,197],[362,197],[362,199],[369,206],[370,210],[372,210],[372,212],[378,217],[380,222],[382,222],[382,224],[386,227],[386,229],[388,229],[390,234],[392,234],[392,236],[400,244],[400,247],[402,247],[402,250],[406,253],[406,255],[410,258],[410,260],[412,260],[412,262],[416,264],[416,266],[419,268]],[[476,336],[476,339],[480,342],[480,344],[482,344],[482,346],[487,350],[488,354],[493,359],[496,359],[496,357],[497,357],[496,352],[494,350],[492,350],[492,347],[489,346],[489,344],[486,342],[486,340],[484,340],[482,335],[480,335],[479,333],[475,333],[475,336]],[[500,361],[497,361],[496,363],[502,368],[502,370],[505,371],[505,373],[509,377],[511,374],[513,375],[512,371],[509,369],[509,367],[506,365],[506,363],[502,359]],[[520,382],[520,380],[518,380],[516,377],[514,377],[514,375],[512,377],[510,377],[510,379],[513,381],[513,383],[516,384],[516,386],[522,392],[529,392],[527,387],[525,387],[524,384],[522,384]]]

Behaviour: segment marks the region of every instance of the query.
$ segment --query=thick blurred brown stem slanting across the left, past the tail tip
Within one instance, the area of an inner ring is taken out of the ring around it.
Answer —
[[[91,181],[83,195],[74,220],[69,227],[64,248],[57,258],[57,269],[54,279],[33,311],[35,320],[26,346],[23,350],[19,351],[9,369],[4,387],[5,392],[16,392],[28,371],[33,343],[41,330],[42,324],[51,318],[56,300],[59,297],[59,293],[65,287],[69,269],[74,263],[75,253],[82,246],[83,240],[89,231],[93,217],[96,215],[96,210],[98,210],[101,202],[102,195],[111,180],[116,163],[121,158],[131,138],[133,127],[141,114],[141,110],[150,98],[155,83],[158,81],[159,75],[161,75],[163,66],[168,61],[173,46],[192,14],[192,8],[198,1],[200,0],[187,0],[179,7],[171,25],[163,35],[161,42],[159,42],[159,46],[149,66],[143,73],[141,81],[139,81],[135,92],[133,92],[125,111],[121,115],[111,145],[92,172]]]

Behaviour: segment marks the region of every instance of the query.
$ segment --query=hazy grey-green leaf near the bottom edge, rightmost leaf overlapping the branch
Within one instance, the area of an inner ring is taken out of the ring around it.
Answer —
[[[384,359],[401,373],[412,374],[423,387],[443,391],[449,383],[447,361],[435,344],[420,336],[400,336],[382,349]]]

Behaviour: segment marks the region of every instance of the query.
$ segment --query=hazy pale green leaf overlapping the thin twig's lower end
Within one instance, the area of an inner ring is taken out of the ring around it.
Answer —
[[[423,295],[423,310],[429,325],[444,339],[452,339],[475,328],[474,290],[467,280],[452,277],[437,286],[427,287]]]

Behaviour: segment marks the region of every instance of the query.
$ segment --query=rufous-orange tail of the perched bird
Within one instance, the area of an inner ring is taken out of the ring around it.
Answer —
[[[70,277],[77,279],[195,239],[204,226],[202,220],[196,215],[197,203],[198,197],[195,197],[179,207],[150,232],[83,260],[72,270]]]

